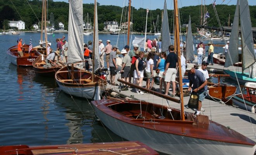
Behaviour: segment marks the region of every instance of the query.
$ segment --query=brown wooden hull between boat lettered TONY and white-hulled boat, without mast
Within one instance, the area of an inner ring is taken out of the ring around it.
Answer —
[[[45,60],[46,55],[41,55],[40,57],[36,58],[36,60],[32,63],[36,74],[40,74],[42,76],[54,76],[59,69],[65,66],[62,62],[57,62],[57,60],[55,60],[55,63],[57,65],[52,67],[46,67]]]

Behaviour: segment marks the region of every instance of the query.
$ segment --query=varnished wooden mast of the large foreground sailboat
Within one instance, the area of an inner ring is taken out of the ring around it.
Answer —
[[[183,88],[182,88],[182,68],[181,68],[181,55],[180,55],[180,35],[179,35],[179,17],[178,17],[178,0],[174,1],[174,17],[175,17],[175,32],[174,32],[174,38],[176,38],[176,41],[174,42],[175,51],[178,53],[178,68],[179,68],[179,87],[180,87],[180,117],[182,121],[185,121],[184,116],[184,107],[183,107]]]

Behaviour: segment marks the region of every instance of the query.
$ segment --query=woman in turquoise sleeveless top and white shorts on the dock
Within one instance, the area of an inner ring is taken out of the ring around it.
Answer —
[[[162,93],[162,88],[163,88],[163,83],[164,83],[164,90],[165,90],[165,87],[166,87],[166,83],[164,82],[164,69],[165,69],[165,66],[166,66],[166,53],[165,52],[162,52],[161,53],[161,59],[158,59],[157,63],[156,63],[156,67],[160,70],[160,72],[158,73],[158,77],[159,77],[159,81],[160,81],[160,84],[159,84],[159,93]]]

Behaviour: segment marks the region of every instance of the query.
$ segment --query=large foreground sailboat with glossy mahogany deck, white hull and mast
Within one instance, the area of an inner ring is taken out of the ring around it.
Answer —
[[[174,0],[174,47],[178,53],[179,79],[182,81],[177,5],[177,0]],[[166,11],[166,0],[164,6]],[[135,84],[119,79],[118,81],[145,90]],[[173,98],[172,101],[180,103],[180,110],[171,108],[168,104],[163,106],[125,98],[107,98],[91,103],[100,121],[112,132],[126,140],[139,140],[159,152],[171,155],[254,154],[256,149],[254,141],[209,120],[206,115],[198,115],[195,119],[192,113],[184,112],[182,83],[179,83],[179,87],[180,100]],[[147,92],[162,95],[152,90],[147,90]],[[162,97],[170,98],[166,95],[162,95]]]

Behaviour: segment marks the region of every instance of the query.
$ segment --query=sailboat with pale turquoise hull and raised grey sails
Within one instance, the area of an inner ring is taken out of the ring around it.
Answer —
[[[225,74],[229,74],[230,78],[241,83],[256,82],[256,77],[250,78],[249,73],[245,73],[245,69],[256,62],[253,45],[253,32],[251,26],[251,18],[249,5],[247,0],[237,0],[235,16],[232,25],[230,43],[228,46],[227,58],[224,67],[229,67],[239,61],[238,42],[239,42],[239,13],[242,34],[242,72],[224,69]]]

